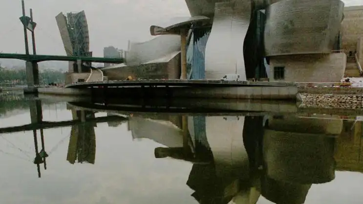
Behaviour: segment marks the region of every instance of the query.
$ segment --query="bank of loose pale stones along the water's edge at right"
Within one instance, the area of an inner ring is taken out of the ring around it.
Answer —
[[[362,109],[363,95],[300,94],[300,107]]]

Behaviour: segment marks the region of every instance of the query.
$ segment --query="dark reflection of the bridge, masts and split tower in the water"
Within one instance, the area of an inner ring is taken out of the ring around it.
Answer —
[[[98,122],[122,122],[127,120],[125,117],[120,116],[107,116],[107,117],[95,117],[94,112],[83,110],[71,110],[73,120],[60,121],[60,122],[46,122],[43,121],[43,109],[42,102],[40,100],[29,100],[29,110],[31,123],[0,128],[0,134],[21,132],[21,131],[33,131],[34,137],[34,149],[35,158],[33,163],[37,165],[38,177],[41,177],[41,164],[46,166],[46,159],[54,150],[58,148],[58,145],[63,143],[64,139],[57,143],[49,152],[45,149],[45,140],[43,129],[57,128],[71,126],[67,161],[69,163],[94,163],[96,153],[96,136],[94,127]],[[38,131],[39,130],[39,131]],[[38,133],[41,136],[41,147],[38,145]],[[20,149],[21,150],[21,149]]]

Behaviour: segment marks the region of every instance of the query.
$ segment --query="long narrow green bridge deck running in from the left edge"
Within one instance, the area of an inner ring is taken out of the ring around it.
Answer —
[[[100,63],[123,63],[122,58],[99,58],[99,57],[82,57],[82,56],[58,56],[58,55],[27,55],[14,53],[0,53],[0,59],[17,59],[23,61],[40,62],[40,61],[77,61],[83,62],[100,62]]]

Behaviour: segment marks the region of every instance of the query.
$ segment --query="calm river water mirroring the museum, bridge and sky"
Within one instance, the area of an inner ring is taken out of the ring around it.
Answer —
[[[354,117],[0,99],[3,204],[363,201]]]

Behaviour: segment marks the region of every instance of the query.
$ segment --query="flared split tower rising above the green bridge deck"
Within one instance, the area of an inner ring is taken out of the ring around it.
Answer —
[[[91,56],[85,11],[66,16],[60,13],[56,20],[67,56]]]

